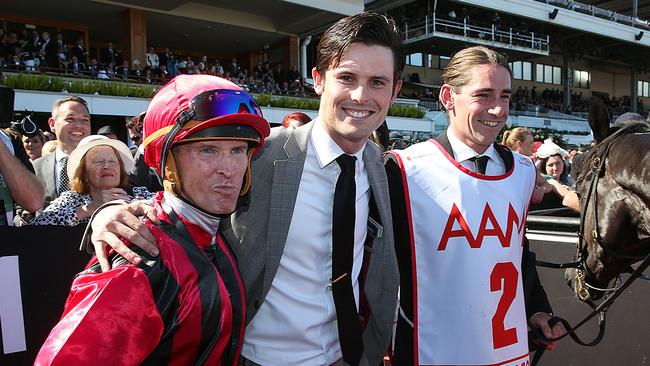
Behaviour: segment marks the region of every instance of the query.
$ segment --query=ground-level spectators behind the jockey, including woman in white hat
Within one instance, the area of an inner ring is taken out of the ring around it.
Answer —
[[[36,132],[30,137],[16,123],[0,128],[0,188],[7,188],[0,189],[0,226],[74,226],[87,222],[90,214],[107,201],[149,198],[152,192],[162,191],[160,178],[144,162],[141,145],[145,116],[142,112],[125,119],[125,141],[120,141],[116,126],[111,124],[91,135],[86,101],[70,96],[57,100],[52,107],[48,125],[56,135],[46,135],[34,126]],[[296,128],[310,121],[308,115],[294,112],[282,125]],[[52,144],[53,148],[48,147]],[[95,151],[101,146],[112,151]],[[92,155],[88,164],[86,155]],[[15,184],[14,176],[26,182],[25,189],[19,189],[23,187]],[[26,177],[33,178],[33,184],[27,184]],[[26,190],[38,193],[26,200]],[[8,200],[7,196],[15,198]]]

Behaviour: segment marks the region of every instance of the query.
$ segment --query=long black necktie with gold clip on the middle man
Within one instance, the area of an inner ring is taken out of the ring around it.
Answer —
[[[332,220],[332,295],[343,360],[353,366],[359,364],[363,352],[361,325],[351,277],[356,198],[355,161],[354,156],[346,154],[336,158],[341,174],[334,191]]]

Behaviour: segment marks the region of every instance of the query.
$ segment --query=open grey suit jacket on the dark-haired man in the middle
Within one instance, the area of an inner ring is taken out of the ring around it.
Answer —
[[[309,123],[296,129],[272,130],[252,164],[249,203],[221,225],[237,255],[246,286],[247,322],[264,302],[280,265],[312,127]],[[384,228],[384,234],[374,239],[364,287],[370,316],[363,333],[362,364],[378,365],[388,349],[399,274],[381,152],[368,144],[363,160]]]

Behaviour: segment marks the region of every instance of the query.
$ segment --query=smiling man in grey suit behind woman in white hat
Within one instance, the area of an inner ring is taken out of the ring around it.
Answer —
[[[41,210],[59,197],[61,192],[70,189],[66,186],[65,166],[68,155],[77,147],[79,141],[90,135],[88,104],[83,98],[76,96],[58,99],[52,105],[52,116],[47,122],[56,134],[58,143],[54,153],[34,160],[36,176],[45,187],[45,203]],[[64,174],[65,177],[62,177]]]

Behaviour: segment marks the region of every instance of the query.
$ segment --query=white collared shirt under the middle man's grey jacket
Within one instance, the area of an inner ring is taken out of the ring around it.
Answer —
[[[278,272],[246,328],[242,355],[261,365],[329,365],[342,357],[332,275],[332,205],[343,150],[312,122],[298,196]],[[352,279],[359,305],[359,272],[366,239],[370,182],[364,147],[354,154],[356,219]]]

